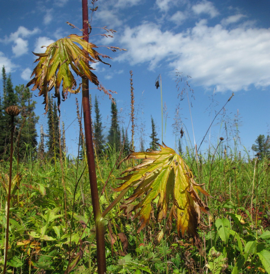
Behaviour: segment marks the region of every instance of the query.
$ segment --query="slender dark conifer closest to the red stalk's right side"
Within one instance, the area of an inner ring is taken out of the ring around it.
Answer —
[[[95,122],[94,122],[94,143],[97,155],[100,155],[103,150],[104,136],[102,134],[102,122],[99,111],[99,102],[95,96]]]

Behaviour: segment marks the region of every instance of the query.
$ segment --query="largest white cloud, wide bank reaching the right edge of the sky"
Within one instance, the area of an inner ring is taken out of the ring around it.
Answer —
[[[238,91],[250,85],[270,85],[270,29],[227,30],[201,20],[186,32],[172,33],[144,23],[126,27],[120,41],[128,51],[117,60],[130,60],[132,65],[148,63],[150,70],[166,62],[205,88]]]

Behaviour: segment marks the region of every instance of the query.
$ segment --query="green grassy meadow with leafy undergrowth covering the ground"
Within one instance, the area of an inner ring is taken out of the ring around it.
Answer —
[[[159,227],[153,223],[136,234],[134,216],[126,216],[117,206],[106,217],[108,273],[206,273],[207,269],[208,273],[267,273],[263,260],[269,252],[269,160],[246,160],[239,154],[224,156],[221,149],[217,149],[212,160],[212,151],[206,156],[198,154],[192,169],[196,181],[205,184],[214,197],[207,200],[211,215],[203,215],[209,227],[200,230],[203,254],[188,237],[179,238],[175,227],[160,244],[155,242]],[[110,149],[96,160],[100,194],[107,184],[100,196],[104,207],[116,198],[110,187],[117,186],[117,177],[127,168],[115,168],[118,156]],[[193,161],[193,156],[184,158],[189,165]],[[78,167],[75,160],[63,161],[62,166],[59,160],[50,163],[46,159],[18,164],[21,179],[15,179],[10,204],[10,273],[64,273],[69,250],[74,273],[96,272],[88,172],[84,160]],[[8,168],[2,162],[0,269],[4,258],[4,186],[8,184]],[[80,181],[74,195],[77,172]],[[16,175],[13,172],[13,179]]]

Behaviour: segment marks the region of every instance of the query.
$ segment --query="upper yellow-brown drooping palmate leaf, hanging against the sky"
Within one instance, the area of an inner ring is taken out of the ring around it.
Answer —
[[[33,52],[39,57],[35,60],[35,62],[38,62],[38,65],[34,68],[31,75],[31,77],[35,75],[34,78],[27,83],[27,86],[34,84],[32,90],[38,89],[38,95],[44,97],[45,113],[48,111],[48,92],[52,88],[55,89],[54,96],[58,99],[58,109],[61,102],[59,93],[61,83],[63,86],[63,100],[66,99],[68,92],[78,93],[80,91],[81,84],[77,87],[76,79],[71,70],[77,76],[88,78],[100,90],[103,90],[111,97],[111,94],[99,83],[97,76],[92,72],[94,69],[87,62],[102,62],[109,65],[103,62],[100,56],[109,57],[95,51],[93,48],[96,47],[94,44],[83,40],[83,36],[70,34],[68,37],[50,44],[45,53]]]

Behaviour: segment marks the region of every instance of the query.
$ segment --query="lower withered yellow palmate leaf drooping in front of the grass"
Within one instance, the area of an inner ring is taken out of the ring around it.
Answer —
[[[166,220],[167,229],[171,229],[173,219],[176,220],[178,235],[185,231],[193,236],[199,245],[197,229],[200,224],[200,210],[208,214],[207,206],[198,196],[199,190],[210,196],[196,184],[193,174],[185,161],[173,149],[160,146],[160,151],[132,152],[124,160],[142,159],[139,165],[125,170],[128,174],[118,178],[124,180],[115,191],[126,192],[135,188],[133,194],[126,199],[124,207],[127,213],[139,209],[139,229],[142,230],[153,214],[153,200],[158,197],[156,220]],[[135,199],[140,200],[134,205]],[[133,204],[133,206],[131,206]]]

